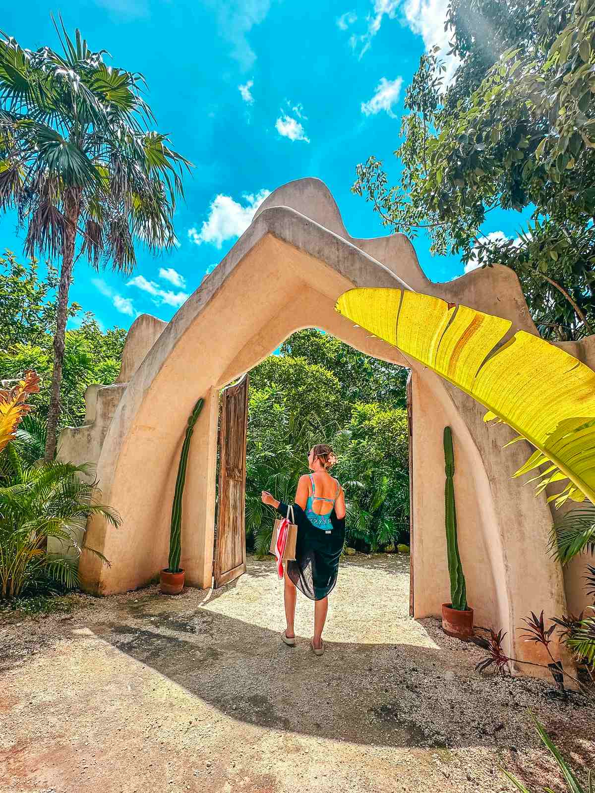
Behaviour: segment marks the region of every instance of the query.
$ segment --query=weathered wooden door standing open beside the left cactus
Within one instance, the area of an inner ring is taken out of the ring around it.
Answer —
[[[213,554],[213,588],[246,572],[246,433],[248,381],[245,374],[221,397],[219,508]]]

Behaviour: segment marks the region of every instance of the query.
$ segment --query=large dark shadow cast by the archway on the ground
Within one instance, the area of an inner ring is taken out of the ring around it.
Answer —
[[[433,647],[327,642],[315,657],[308,638],[287,647],[276,631],[204,607],[184,611],[181,600],[156,594],[128,603],[121,616],[93,626],[94,634],[228,717],[359,745],[514,750],[519,728],[531,733],[528,704],[536,691],[545,702],[551,688],[474,674],[478,649],[453,653],[452,640],[428,620],[417,625]],[[465,653],[473,656],[466,662]],[[566,739],[586,761],[582,739]]]

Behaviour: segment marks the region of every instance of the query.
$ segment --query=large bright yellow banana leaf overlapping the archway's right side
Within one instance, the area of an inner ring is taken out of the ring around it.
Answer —
[[[539,487],[567,478],[570,485],[555,498],[595,502],[589,366],[524,331],[502,343],[509,320],[417,292],[350,289],[336,310],[470,394],[488,408],[485,420],[501,419],[536,446],[515,476],[550,462]]]

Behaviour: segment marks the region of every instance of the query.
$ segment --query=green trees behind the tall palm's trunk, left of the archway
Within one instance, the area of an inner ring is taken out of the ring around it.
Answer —
[[[51,266],[41,278],[35,260],[23,265],[10,251],[0,258],[0,377],[17,377],[27,369],[40,375],[46,387],[30,398],[37,421],[47,416],[50,399],[47,386],[52,377],[56,286],[56,271]],[[126,331],[112,328],[103,332],[93,314],[81,314],[75,303],[68,316],[80,324],[66,332],[61,426],[77,426],[85,417],[87,385],[109,385],[116,379]]]

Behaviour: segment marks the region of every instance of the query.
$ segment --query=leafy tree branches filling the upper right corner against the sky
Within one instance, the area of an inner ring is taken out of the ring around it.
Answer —
[[[447,26],[461,65],[446,90],[437,48],[407,90],[395,152],[357,168],[353,190],[383,223],[432,252],[502,263],[520,278],[540,333],[577,339],[595,327],[595,0],[453,0]],[[486,239],[490,209],[532,210],[518,239]]]

